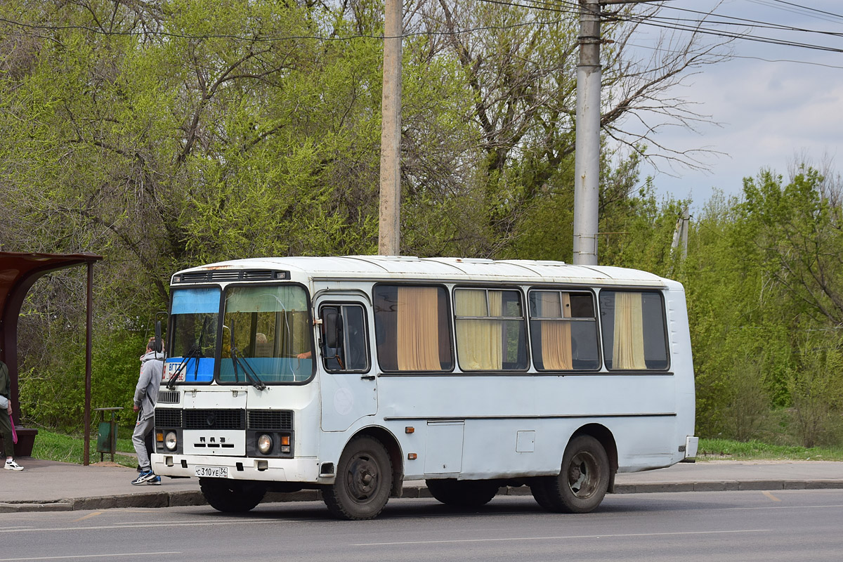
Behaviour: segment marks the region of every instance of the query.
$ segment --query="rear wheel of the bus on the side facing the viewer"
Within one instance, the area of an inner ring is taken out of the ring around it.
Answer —
[[[574,437],[565,448],[559,476],[535,479],[531,489],[535,500],[548,511],[594,511],[609,489],[609,457],[594,437]]]

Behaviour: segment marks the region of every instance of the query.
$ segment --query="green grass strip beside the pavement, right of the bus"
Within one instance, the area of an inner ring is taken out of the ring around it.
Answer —
[[[700,439],[700,460],[792,460],[843,461],[843,447],[793,447],[760,441],[738,442],[728,439]]]

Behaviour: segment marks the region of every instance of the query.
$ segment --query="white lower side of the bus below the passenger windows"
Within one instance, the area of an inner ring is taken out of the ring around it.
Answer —
[[[401,426],[396,435],[403,435],[403,426],[414,427],[405,449],[419,458],[407,463],[408,479],[557,474],[568,439],[589,423],[613,432],[633,428],[624,431],[634,436],[624,448],[626,469],[668,466],[678,448],[676,393],[669,374],[380,377],[379,390],[379,417]],[[494,415],[488,404],[498,404]],[[450,423],[459,421],[464,426]],[[435,431],[429,431],[433,425]],[[453,452],[458,432],[463,436],[459,458]],[[446,454],[438,447],[448,447],[445,464],[459,468],[431,472],[424,455]]]

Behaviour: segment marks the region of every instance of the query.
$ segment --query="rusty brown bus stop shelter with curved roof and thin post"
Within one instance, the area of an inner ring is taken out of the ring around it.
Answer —
[[[91,403],[91,333],[93,325],[93,277],[94,262],[102,260],[95,254],[26,254],[0,252],[0,360],[8,366],[11,379],[12,416],[18,442],[14,446],[16,457],[29,457],[38,430],[20,426],[20,403],[18,387],[18,317],[26,293],[38,281],[56,270],[74,265],[88,266],[87,291],[87,339],[85,348],[85,436],[90,433]],[[85,447],[85,464],[88,464],[88,447]]]

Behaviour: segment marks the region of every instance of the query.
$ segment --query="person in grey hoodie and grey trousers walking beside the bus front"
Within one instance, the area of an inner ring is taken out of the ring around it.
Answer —
[[[137,423],[132,433],[132,444],[135,446],[141,474],[132,480],[132,484],[161,484],[161,477],[153,473],[145,443],[147,434],[153,431],[155,403],[158,401],[158,387],[161,386],[164,371],[164,355],[155,351],[155,346],[155,338],[150,338],[147,351],[141,357],[141,374],[135,387],[133,409],[137,412]]]

